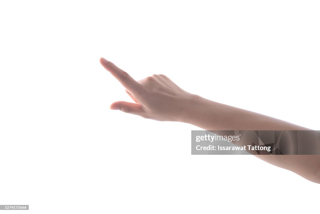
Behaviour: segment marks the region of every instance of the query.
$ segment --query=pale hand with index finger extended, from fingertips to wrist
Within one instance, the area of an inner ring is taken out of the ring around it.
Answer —
[[[111,104],[111,109],[159,121],[182,121],[188,115],[188,106],[195,95],[182,90],[167,76],[154,74],[135,81],[112,62],[100,58],[100,63],[124,86],[135,102],[117,101]]]

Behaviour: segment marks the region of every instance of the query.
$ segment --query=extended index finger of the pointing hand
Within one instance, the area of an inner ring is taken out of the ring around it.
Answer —
[[[139,92],[142,90],[142,85],[135,81],[127,72],[118,68],[112,62],[105,58],[100,58],[101,65],[108,70],[127,90],[131,92]]]

